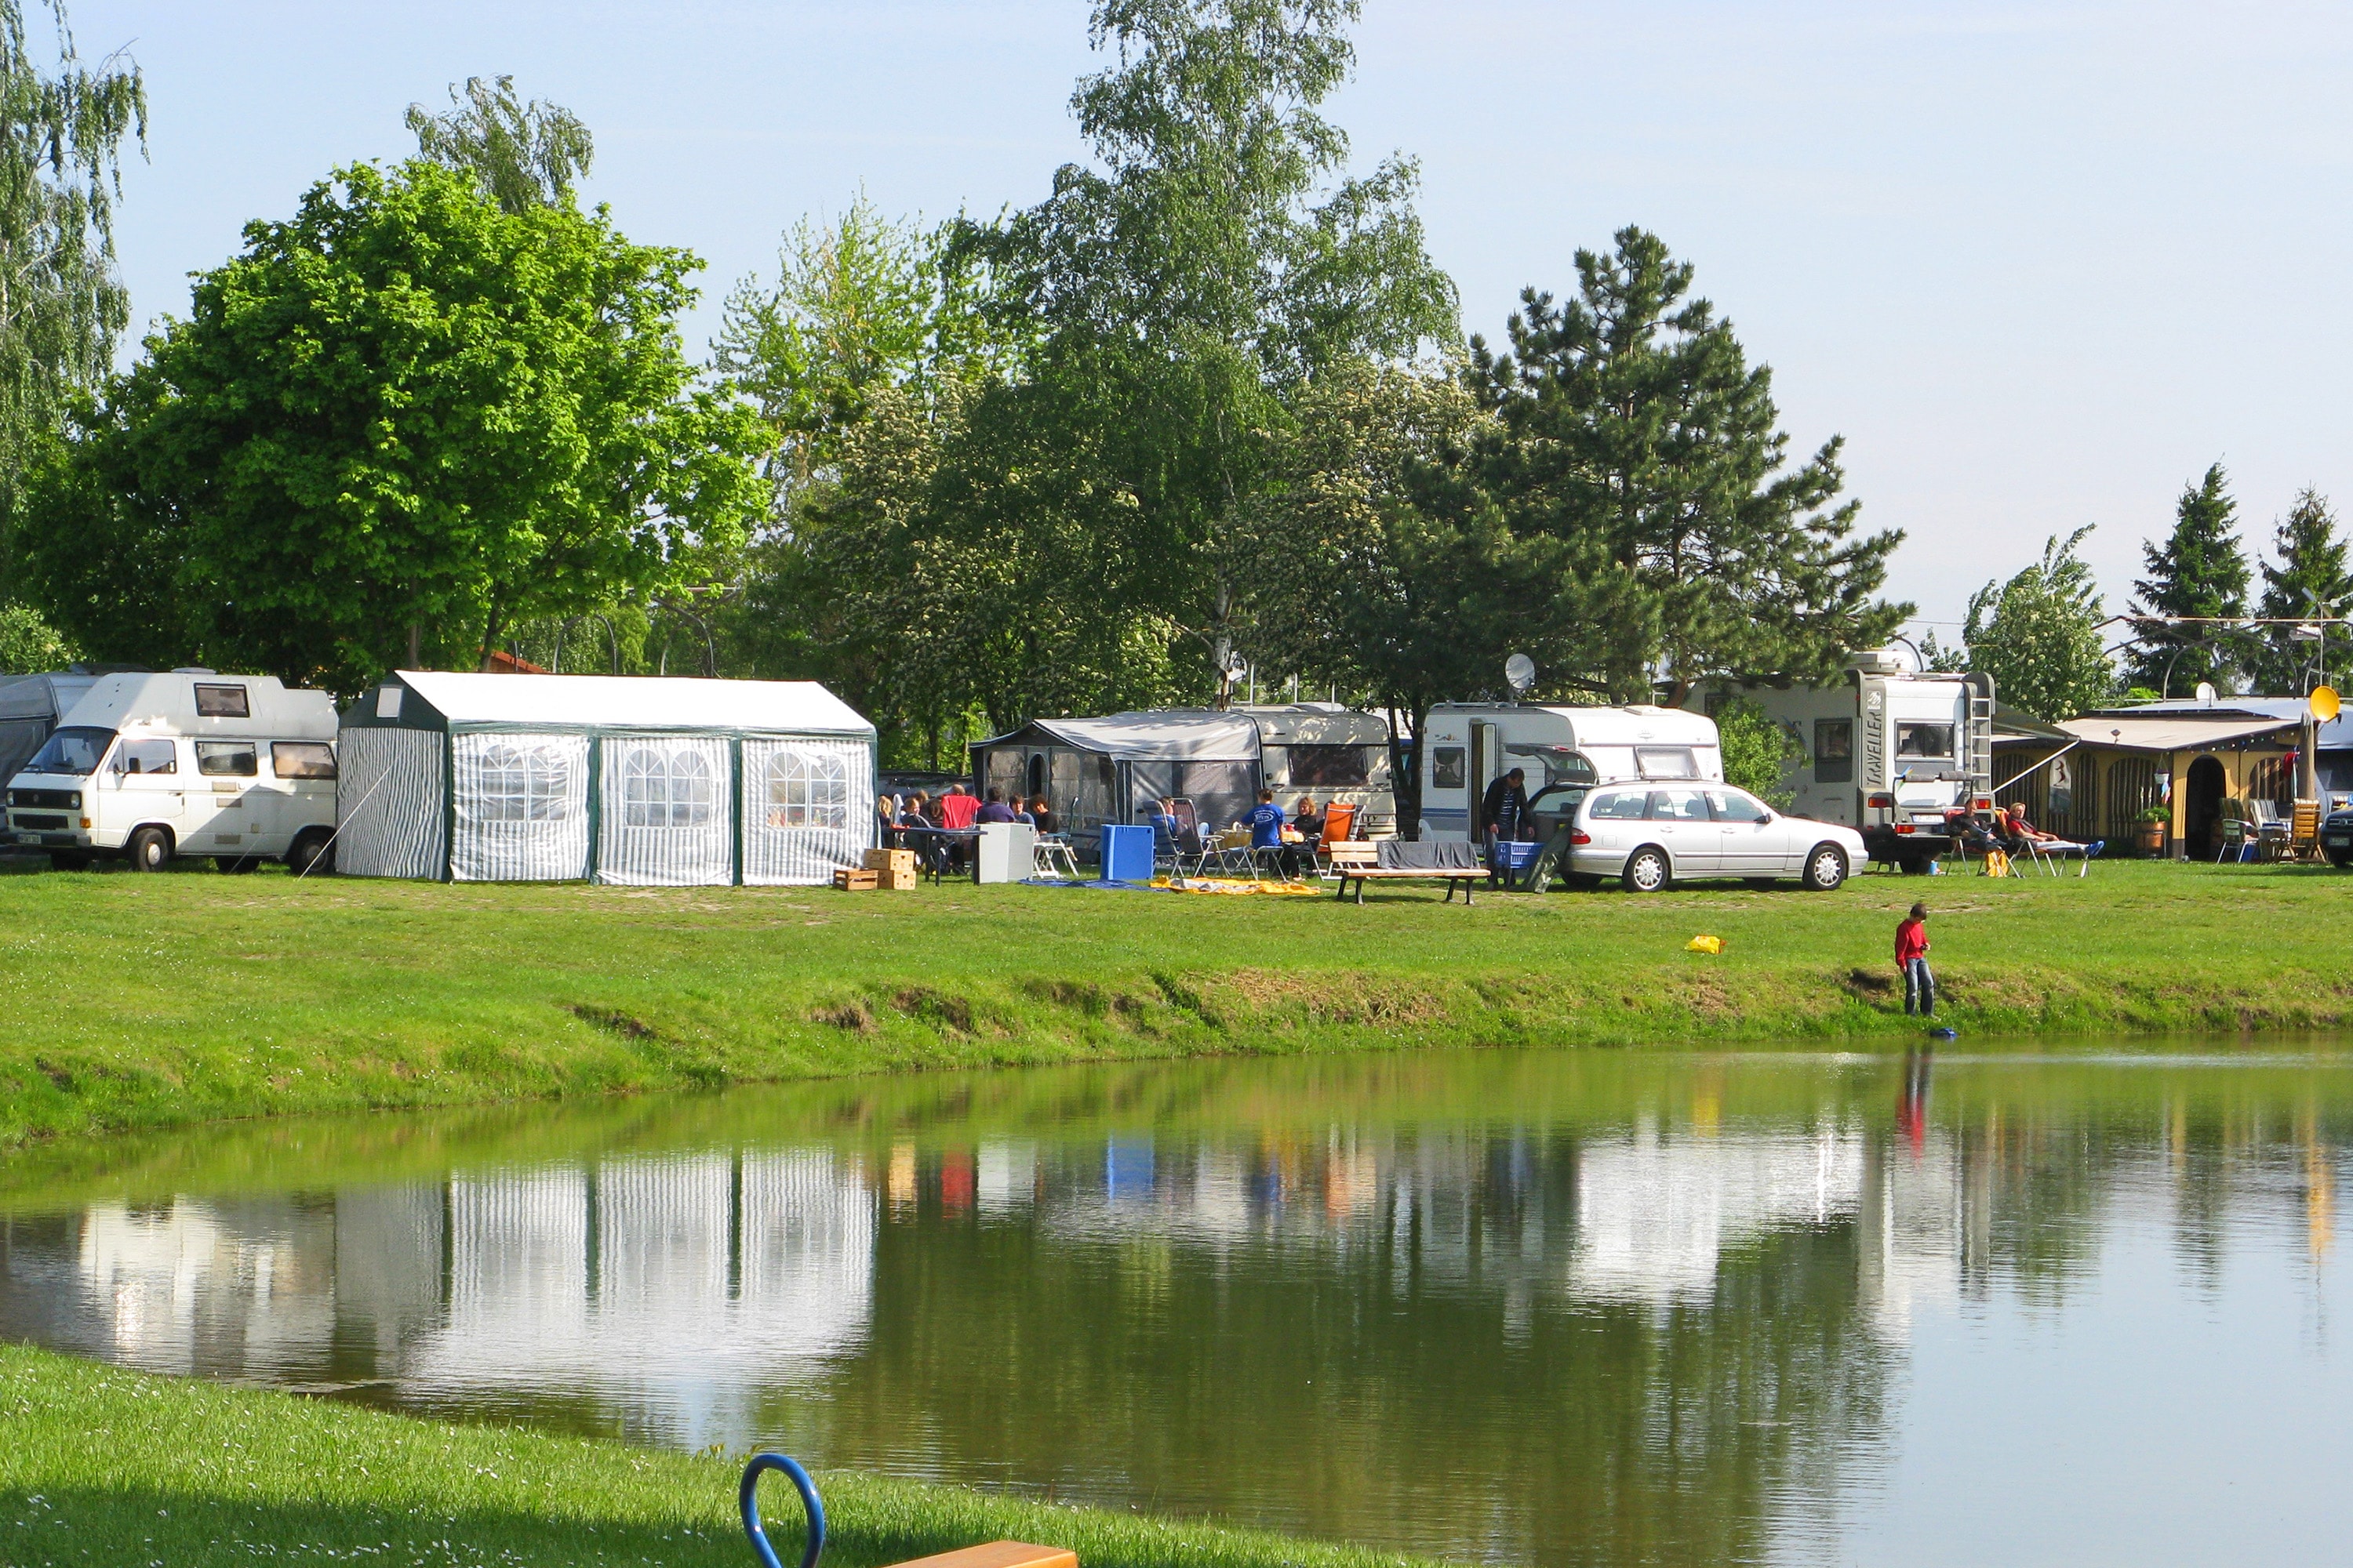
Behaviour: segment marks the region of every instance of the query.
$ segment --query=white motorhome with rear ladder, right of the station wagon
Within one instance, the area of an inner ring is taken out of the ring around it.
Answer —
[[[1894,649],[1847,656],[1831,686],[1704,684],[1692,703],[1755,703],[1795,743],[1791,813],[1845,823],[1873,860],[1927,870],[1951,813],[1993,806],[1993,677],[1913,670]]]

